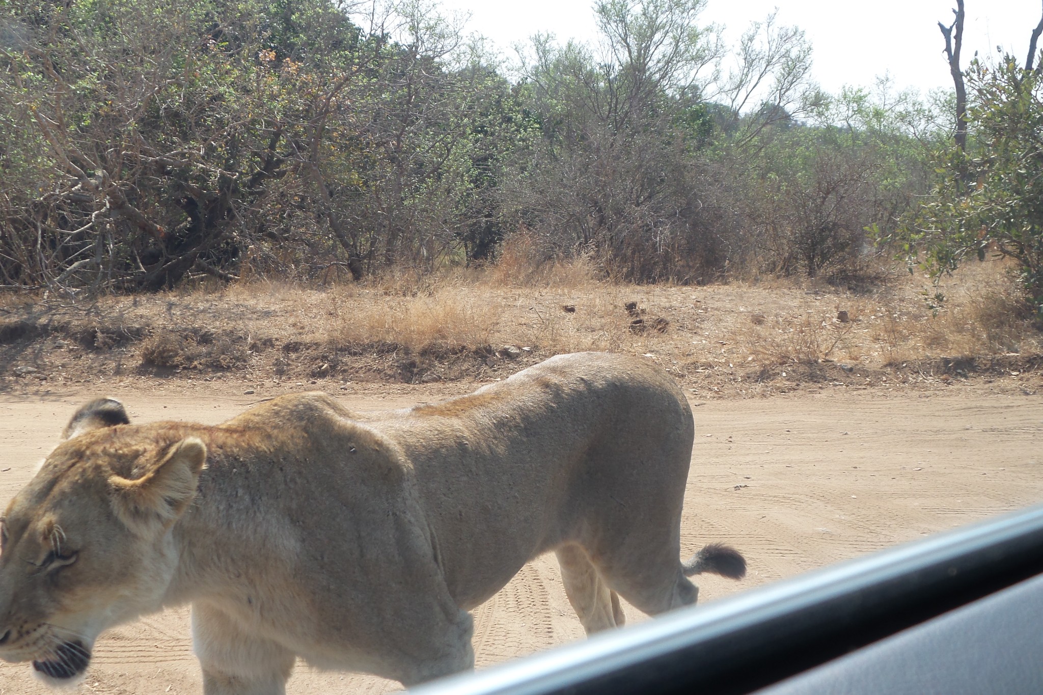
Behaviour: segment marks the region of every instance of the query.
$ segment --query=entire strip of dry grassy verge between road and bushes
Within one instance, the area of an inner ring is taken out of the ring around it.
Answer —
[[[829,363],[847,363],[853,374],[1043,352],[1001,263],[973,264],[948,279],[948,300],[936,316],[924,301],[933,289],[923,277],[906,275],[869,294],[792,280],[636,287],[598,280],[586,259],[534,258],[525,245],[508,251],[490,268],[399,270],[332,288],[251,281],[108,297],[90,306],[11,304],[0,321],[29,321],[38,330],[13,328],[0,339],[39,342],[53,330],[46,322],[66,326],[66,334],[79,337],[78,349],[97,358],[242,371],[251,379],[355,379],[363,372],[372,379],[486,379],[512,358],[505,346],[528,348],[522,365],[610,350],[647,355],[699,393],[744,394],[751,380],[777,386]],[[628,311],[631,303],[636,308]]]

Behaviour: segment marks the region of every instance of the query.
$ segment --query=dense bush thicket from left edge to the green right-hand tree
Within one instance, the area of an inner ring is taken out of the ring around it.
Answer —
[[[822,94],[774,16],[728,51],[704,4],[604,0],[513,80],[422,0],[0,4],[0,284],[359,279],[516,231],[642,282],[859,272],[935,111]]]

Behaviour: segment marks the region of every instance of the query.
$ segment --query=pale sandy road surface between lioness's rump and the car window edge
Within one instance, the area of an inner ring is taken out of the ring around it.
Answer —
[[[1043,418],[1038,399],[1016,404],[858,396],[701,407],[682,526],[698,544],[733,543],[774,578],[1024,506],[1043,497],[1040,480],[1016,472]]]

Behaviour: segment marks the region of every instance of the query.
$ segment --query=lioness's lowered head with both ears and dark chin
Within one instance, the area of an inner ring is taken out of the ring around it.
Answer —
[[[132,429],[118,401],[88,403],[7,505],[0,659],[68,681],[103,629],[162,607],[176,566],[170,528],[195,495],[207,449]]]

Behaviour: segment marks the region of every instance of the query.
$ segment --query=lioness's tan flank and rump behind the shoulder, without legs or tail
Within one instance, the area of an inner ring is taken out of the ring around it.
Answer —
[[[694,430],[669,375],[597,352],[367,424],[410,461],[446,582],[467,606],[606,515],[633,528],[642,522],[621,508],[679,513]]]

